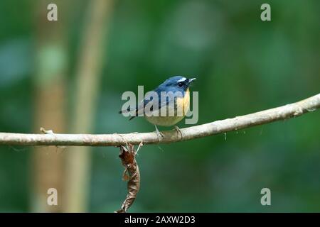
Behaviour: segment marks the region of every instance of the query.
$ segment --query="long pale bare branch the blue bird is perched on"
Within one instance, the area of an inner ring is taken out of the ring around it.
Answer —
[[[181,128],[183,138],[174,130],[164,131],[162,132],[164,138],[161,141],[159,141],[156,133],[114,133],[105,135],[0,133],[0,145],[120,146],[126,145],[127,143],[138,145],[141,142],[144,144],[174,143],[301,116],[302,114],[315,111],[319,108],[320,94],[316,94],[308,99],[274,109],[213,121],[200,126]]]

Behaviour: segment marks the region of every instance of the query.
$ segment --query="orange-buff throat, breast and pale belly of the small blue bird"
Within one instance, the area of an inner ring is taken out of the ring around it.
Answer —
[[[189,107],[190,107],[189,89],[186,91],[183,98],[176,99],[175,110],[177,107],[181,108],[181,111],[179,112],[181,114],[176,114],[178,116],[144,116],[144,117],[146,118],[146,121],[149,121],[150,123],[153,123],[156,126],[176,125],[176,123],[181,121],[186,116],[186,113],[189,110]]]

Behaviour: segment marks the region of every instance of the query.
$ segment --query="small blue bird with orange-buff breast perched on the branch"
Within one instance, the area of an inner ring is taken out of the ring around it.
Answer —
[[[137,116],[143,115],[146,121],[152,123],[156,128],[156,135],[159,140],[163,138],[163,134],[157,126],[174,126],[176,131],[183,134],[176,126],[181,121],[190,108],[190,91],[189,87],[196,78],[188,79],[183,76],[174,76],[166,79],[156,89],[147,92],[144,99],[134,108],[122,109],[119,114],[131,113],[132,120]]]

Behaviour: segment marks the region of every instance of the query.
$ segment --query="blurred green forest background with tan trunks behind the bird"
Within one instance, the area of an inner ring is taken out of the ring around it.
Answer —
[[[1,0],[0,131],[154,131],[117,114],[122,92],[176,74],[198,78],[198,124],[319,93],[320,1],[267,1],[270,22],[260,20],[263,3]],[[319,117],[145,145],[130,211],[320,211]],[[117,210],[127,193],[118,153],[1,146],[0,211]],[[58,206],[46,204],[50,187]],[[271,206],[260,204],[264,187]]]

